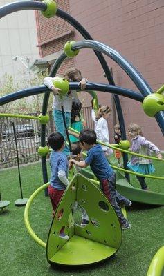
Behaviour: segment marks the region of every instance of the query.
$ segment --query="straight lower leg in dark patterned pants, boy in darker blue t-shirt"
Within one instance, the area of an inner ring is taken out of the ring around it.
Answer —
[[[116,215],[118,216],[118,220],[120,221],[120,225],[127,224],[127,219],[125,219],[124,215],[122,214],[120,207],[117,204],[116,201],[116,174],[113,173],[113,175],[109,179],[105,179],[100,182],[100,188],[104,195],[106,195],[107,199],[113,206],[113,209],[116,212]]]

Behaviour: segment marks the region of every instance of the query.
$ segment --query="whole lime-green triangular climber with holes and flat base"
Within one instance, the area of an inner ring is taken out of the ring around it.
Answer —
[[[89,216],[87,226],[80,226],[73,220],[71,208],[75,201]],[[63,227],[69,239],[60,237]],[[76,174],[66,188],[51,224],[46,247],[48,262],[64,265],[100,262],[116,253],[121,242],[122,231],[111,204],[98,186]]]

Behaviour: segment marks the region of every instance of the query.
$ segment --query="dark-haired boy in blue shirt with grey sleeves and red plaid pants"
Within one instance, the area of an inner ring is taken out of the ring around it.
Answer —
[[[53,149],[50,156],[51,179],[50,185],[48,186],[48,195],[50,196],[53,212],[55,214],[64,190],[66,186],[69,185],[69,180],[67,179],[69,164],[66,155],[62,153],[65,146],[62,134],[59,132],[51,133],[51,135],[48,136],[48,146]],[[69,236],[64,233],[64,228],[60,230],[60,237],[62,237],[62,239],[69,239]]]

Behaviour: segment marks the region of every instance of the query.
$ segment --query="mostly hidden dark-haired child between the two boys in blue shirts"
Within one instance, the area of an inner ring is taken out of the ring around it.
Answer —
[[[79,143],[73,143],[71,144],[71,148],[72,148],[72,158],[76,161],[80,161],[82,159],[82,148],[80,147]],[[77,171],[80,172],[80,168],[77,167]],[[73,213],[76,212],[77,208],[80,209],[80,212],[82,214],[82,222],[81,222],[81,226],[86,226],[87,224],[89,224],[89,217],[86,213],[86,211],[84,210],[84,208],[82,208],[82,206],[80,206],[78,204],[77,201],[75,201],[75,204],[73,205]]]

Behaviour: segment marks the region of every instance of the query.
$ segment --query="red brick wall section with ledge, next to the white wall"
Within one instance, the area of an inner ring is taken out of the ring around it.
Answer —
[[[56,3],[59,8],[69,13],[69,0],[58,0]],[[36,11],[36,21],[38,46],[41,57],[46,57],[47,55],[63,50],[66,41],[74,39],[73,28],[69,23],[60,19],[60,17],[47,19],[41,12]],[[64,72],[68,66],[74,66],[73,59],[66,59],[59,72]]]

